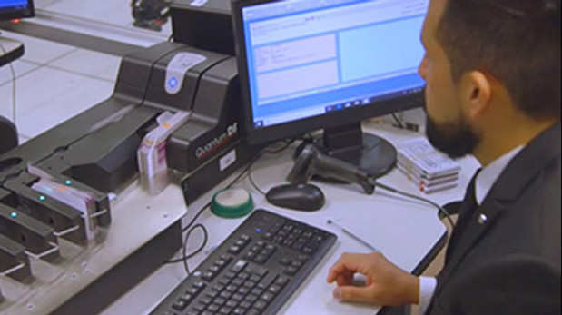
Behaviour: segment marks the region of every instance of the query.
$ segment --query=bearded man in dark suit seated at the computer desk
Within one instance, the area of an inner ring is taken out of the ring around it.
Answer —
[[[382,253],[344,254],[328,276],[334,297],[429,314],[560,314],[560,0],[431,0],[421,39],[429,141],[473,154],[481,171],[437,280]]]

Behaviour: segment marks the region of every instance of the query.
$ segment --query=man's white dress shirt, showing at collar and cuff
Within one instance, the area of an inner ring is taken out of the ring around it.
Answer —
[[[475,197],[478,206],[484,202],[489,190],[498,180],[499,174],[508,166],[508,163],[521,151],[525,145],[500,156],[494,162],[489,163],[478,173],[475,182]],[[419,277],[419,314],[424,314],[428,310],[429,302],[433,297],[433,292],[437,286],[437,279],[434,277]]]

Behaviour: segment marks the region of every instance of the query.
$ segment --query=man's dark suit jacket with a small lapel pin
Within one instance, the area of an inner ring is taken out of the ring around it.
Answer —
[[[560,123],[508,163],[478,208],[469,203],[427,313],[560,314]]]

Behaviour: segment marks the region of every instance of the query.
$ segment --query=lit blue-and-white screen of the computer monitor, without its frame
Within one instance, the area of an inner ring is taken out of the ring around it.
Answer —
[[[243,8],[254,128],[419,92],[428,4],[298,0]]]

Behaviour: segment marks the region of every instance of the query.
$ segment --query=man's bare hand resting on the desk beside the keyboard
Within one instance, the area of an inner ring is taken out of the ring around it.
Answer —
[[[353,285],[353,275],[366,277],[366,285]],[[336,281],[334,298],[376,303],[384,306],[417,304],[419,279],[402,271],[380,252],[370,254],[344,253],[331,267],[328,282]]]

